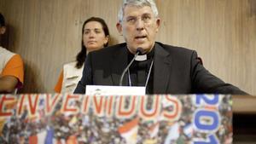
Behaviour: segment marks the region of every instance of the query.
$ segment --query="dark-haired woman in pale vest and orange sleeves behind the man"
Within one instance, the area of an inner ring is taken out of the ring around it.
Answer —
[[[77,55],[77,60],[63,66],[61,76],[55,85],[56,93],[73,93],[84,69],[86,55],[93,50],[108,46],[108,26],[102,18],[91,17],[84,21],[82,30],[82,48]]]

